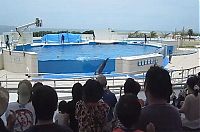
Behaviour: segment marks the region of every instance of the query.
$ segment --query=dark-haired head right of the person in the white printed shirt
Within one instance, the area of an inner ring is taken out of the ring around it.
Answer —
[[[57,110],[58,96],[56,91],[47,85],[37,88],[32,96],[32,104],[38,120],[52,120]]]

